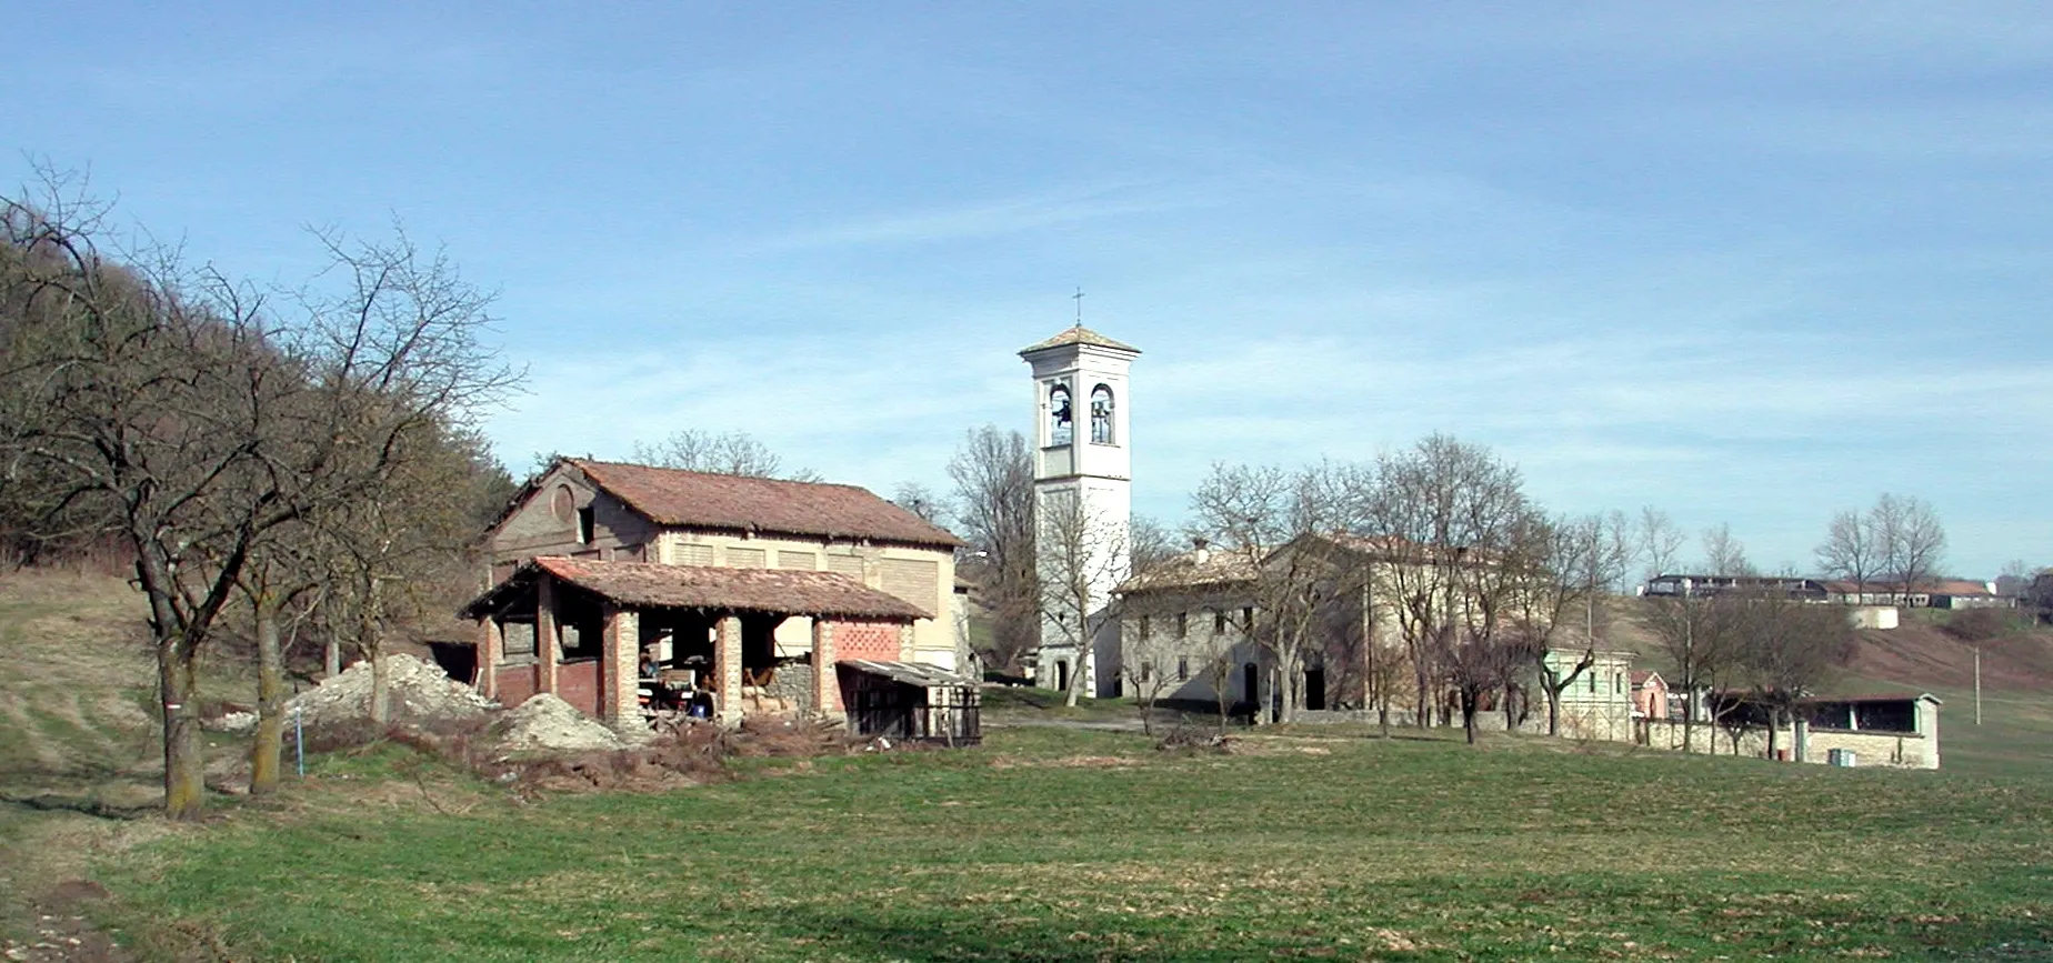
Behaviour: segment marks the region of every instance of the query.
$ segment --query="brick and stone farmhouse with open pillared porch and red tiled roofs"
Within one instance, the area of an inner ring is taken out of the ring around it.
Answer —
[[[622,725],[647,673],[723,719],[836,712],[836,663],[961,665],[961,540],[850,485],[558,458],[487,532],[478,688]]]

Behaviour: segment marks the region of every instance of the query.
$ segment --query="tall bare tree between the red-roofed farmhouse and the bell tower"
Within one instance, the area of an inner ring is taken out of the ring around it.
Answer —
[[[967,431],[948,458],[953,513],[969,542],[963,573],[992,614],[992,665],[1012,669],[1039,639],[1035,581],[1033,452],[1018,431]]]

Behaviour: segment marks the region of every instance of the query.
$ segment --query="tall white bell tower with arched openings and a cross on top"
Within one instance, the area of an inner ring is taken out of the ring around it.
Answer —
[[[1041,651],[1035,682],[1111,696],[1119,680],[1113,589],[1127,579],[1133,448],[1127,368],[1139,349],[1076,324],[1020,357],[1033,368],[1035,546]]]

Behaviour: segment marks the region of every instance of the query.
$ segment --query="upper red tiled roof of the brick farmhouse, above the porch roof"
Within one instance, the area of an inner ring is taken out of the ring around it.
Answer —
[[[659,526],[868,538],[944,548],[963,544],[946,530],[854,485],[745,478],[587,458],[565,458],[565,462]]]

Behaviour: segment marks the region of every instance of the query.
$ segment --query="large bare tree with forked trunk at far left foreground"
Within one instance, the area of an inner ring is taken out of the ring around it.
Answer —
[[[489,298],[404,234],[320,238],[331,269],[281,298],[187,271],[170,251],[121,275],[99,211],[0,201],[0,454],[10,497],[64,519],[90,505],[135,552],[164,710],[164,805],[201,809],[195,667],[259,542],[343,505],[464,423],[515,374],[480,349]],[[365,405],[374,398],[376,405]],[[35,491],[14,493],[33,483]]]

